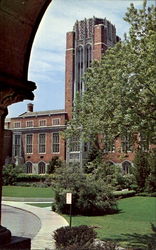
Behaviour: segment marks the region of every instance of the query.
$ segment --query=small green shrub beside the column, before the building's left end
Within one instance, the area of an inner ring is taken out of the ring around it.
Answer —
[[[18,175],[22,173],[22,167],[14,164],[8,164],[3,167],[3,185],[14,185]]]

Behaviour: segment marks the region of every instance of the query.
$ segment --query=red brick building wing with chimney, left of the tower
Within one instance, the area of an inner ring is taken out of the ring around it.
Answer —
[[[61,132],[65,128],[64,110],[33,111],[28,104],[27,112],[6,120],[5,128],[12,131],[12,161],[25,164],[27,173],[44,174],[53,156],[65,159],[65,141]],[[6,157],[9,162],[10,155]]]

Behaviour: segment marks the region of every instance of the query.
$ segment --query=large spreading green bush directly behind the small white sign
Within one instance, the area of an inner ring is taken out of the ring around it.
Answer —
[[[78,166],[60,168],[56,171],[55,202],[61,213],[69,213],[66,193],[72,193],[72,213],[83,215],[108,214],[117,211],[111,189],[103,180],[85,175]]]

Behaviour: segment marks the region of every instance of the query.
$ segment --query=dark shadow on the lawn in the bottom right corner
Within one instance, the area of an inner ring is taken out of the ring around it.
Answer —
[[[103,239],[112,241],[112,238],[105,238]],[[124,242],[124,245],[128,247],[128,249],[135,249],[135,250],[156,250],[156,234],[121,234],[118,238],[113,239],[115,242]],[[126,243],[126,244],[125,244]]]

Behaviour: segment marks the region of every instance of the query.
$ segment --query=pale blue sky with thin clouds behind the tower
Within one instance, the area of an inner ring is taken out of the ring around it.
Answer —
[[[35,99],[12,104],[8,117],[24,113],[29,102],[34,104],[34,111],[63,109],[66,32],[72,31],[76,20],[106,17],[123,38],[128,32],[123,16],[131,2],[140,7],[143,0],[53,0],[40,23],[31,51],[28,79],[37,85]]]

